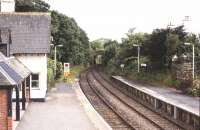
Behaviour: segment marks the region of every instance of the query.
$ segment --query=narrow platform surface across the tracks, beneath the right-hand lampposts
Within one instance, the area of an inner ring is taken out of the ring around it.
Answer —
[[[192,96],[181,94],[180,91],[173,88],[158,87],[158,86],[152,86],[152,85],[147,85],[147,84],[145,85],[139,84],[121,76],[113,76],[113,78],[129,86],[132,86],[144,93],[147,93],[157,99],[160,99],[178,108],[189,111],[197,116],[200,116],[200,98],[199,97],[192,97]]]

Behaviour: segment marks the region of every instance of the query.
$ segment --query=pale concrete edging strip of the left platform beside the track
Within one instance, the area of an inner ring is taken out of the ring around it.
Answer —
[[[99,113],[90,104],[86,96],[83,94],[79,83],[77,82],[74,85],[76,85],[76,87],[73,87],[73,89],[75,90],[78,99],[83,105],[86,114],[88,115],[89,119],[94,124],[94,126],[99,130],[112,130],[110,125],[108,125],[108,123],[99,115]]]

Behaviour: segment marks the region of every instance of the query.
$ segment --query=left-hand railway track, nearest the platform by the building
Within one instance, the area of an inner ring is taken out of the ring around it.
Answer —
[[[95,92],[87,80],[87,72],[81,74],[80,86],[84,94],[95,108],[114,130],[132,130],[121,117],[119,117]]]

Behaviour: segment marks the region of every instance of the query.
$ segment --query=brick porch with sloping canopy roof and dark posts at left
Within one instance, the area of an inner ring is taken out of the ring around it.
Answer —
[[[13,92],[14,120],[19,121],[20,109],[26,109],[26,102],[30,99],[30,86],[27,85],[30,74],[31,71],[15,57],[5,57],[0,52],[0,130],[12,130]]]

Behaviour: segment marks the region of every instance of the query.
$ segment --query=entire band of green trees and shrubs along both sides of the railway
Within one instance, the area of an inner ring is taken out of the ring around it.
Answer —
[[[85,66],[98,63],[110,75],[123,75],[139,82],[175,87],[200,96],[200,35],[186,32],[183,25],[154,29],[152,33],[135,33],[133,28],[121,42],[104,38],[89,42],[86,32],[75,19],[50,10],[50,5],[42,0],[16,0],[16,11],[51,13],[52,44],[54,47],[63,47],[57,48],[56,75],[53,69],[55,49],[51,47],[48,60],[49,86],[54,85],[55,79],[64,80],[64,62],[73,66],[69,77],[71,81],[75,81]],[[182,62],[192,63],[192,47],[184,45],[186,42],[195,46],[195,79],[190,76],[190,79],[182,81],[177,78],[176,61],[182,58],[186,59]],[[140,63],[143,64],[139,73],[138,46]]]

